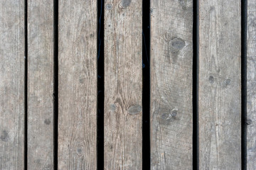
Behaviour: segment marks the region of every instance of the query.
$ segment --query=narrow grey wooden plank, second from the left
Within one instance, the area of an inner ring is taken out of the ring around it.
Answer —
[[[28,169],[53,169],[53,1],[28,0]]]

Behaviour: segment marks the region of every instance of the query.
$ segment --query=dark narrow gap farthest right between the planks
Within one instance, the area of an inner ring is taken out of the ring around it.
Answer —
[[[242,169],[247,169],[246,120],[247,120],[247,0],[241,1],[241,157]]]

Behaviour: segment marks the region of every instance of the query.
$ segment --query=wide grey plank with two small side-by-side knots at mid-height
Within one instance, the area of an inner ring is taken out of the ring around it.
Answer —
[[[199,169],[241,169],[241,1],[199,1]]]

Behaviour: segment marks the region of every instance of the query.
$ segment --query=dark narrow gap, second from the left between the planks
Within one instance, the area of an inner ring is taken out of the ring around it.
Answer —
[[[58,169],[58,0],[53,0],[53,167]]]

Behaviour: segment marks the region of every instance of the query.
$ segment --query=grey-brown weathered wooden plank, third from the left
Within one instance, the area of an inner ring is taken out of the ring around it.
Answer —
[[[97,166],[97,1],[59,0],[58,169]]]

